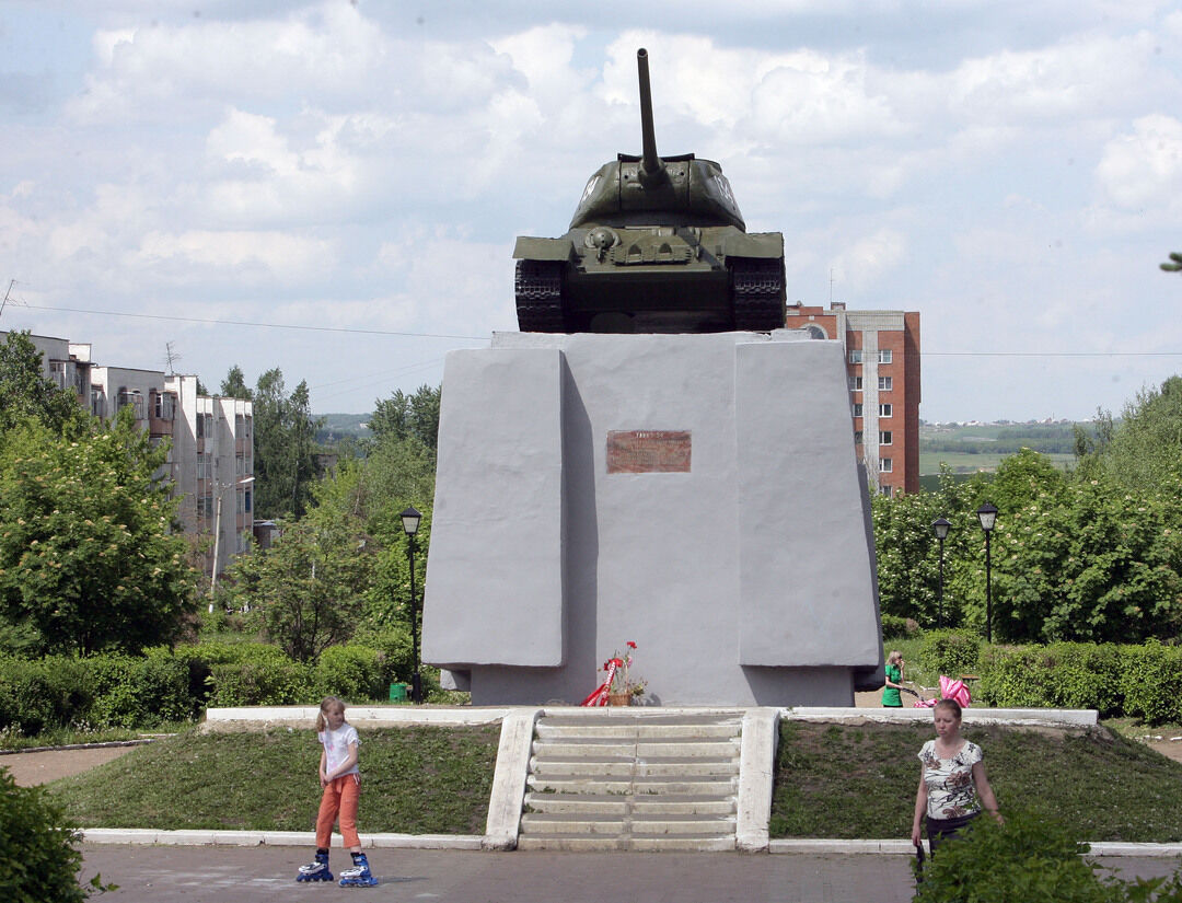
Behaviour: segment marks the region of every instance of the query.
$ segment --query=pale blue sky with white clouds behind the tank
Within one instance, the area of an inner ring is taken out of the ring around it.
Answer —
[[[513,331],[517,235],[719,161],[788,301],[918,311],[927,421],[1087,420],[1182,372],[1182,5],[5,0],[0,330],[279,368],[317,412]]]

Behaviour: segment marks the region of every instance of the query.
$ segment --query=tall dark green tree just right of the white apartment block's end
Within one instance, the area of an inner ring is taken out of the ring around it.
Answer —
[[[228,379],[228,377],[227,377]],[[316,431],[307,383],[288,396],[275,368],[254,391],[255,511],[262,518],[299,518],[316,480]]]

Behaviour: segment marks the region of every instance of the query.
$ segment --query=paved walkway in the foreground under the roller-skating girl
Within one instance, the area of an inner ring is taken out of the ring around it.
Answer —
[[[372,850],[377,888],[298,884],[298,847],[84,845],[83,878],[121,885],[110,903],[423,901],[424,903],[905,903],[905,856],[560,853]],[[348,863],[339,850],[332,868]],[[1176,860],[1110,860],[1124,878],[1169,873]]]

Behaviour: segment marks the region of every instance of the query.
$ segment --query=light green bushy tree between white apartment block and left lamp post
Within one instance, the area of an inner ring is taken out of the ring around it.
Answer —
[[[314,508],[284,524],[269,550],[235,561],[233,595],[262,611],[267,635],[287,655],[311,661],[357,629],[374,573],[368,540],[357,518]]]

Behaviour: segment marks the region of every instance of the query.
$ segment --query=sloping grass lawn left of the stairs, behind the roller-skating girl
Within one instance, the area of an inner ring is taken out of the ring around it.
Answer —
[[[358,733],[362,833],[485,833],[499,726]],[[319,756],[313,730],[189,730],[48,787],[84,827],[311,831]]]

